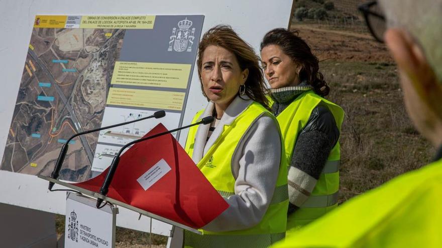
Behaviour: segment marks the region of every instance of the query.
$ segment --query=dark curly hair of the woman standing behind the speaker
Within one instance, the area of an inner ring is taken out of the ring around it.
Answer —
[[[298,36],[297,31],[287,29],[273,29],[269,31],[261,42],[260,51],[269,45],[277,45],[295,63],[301,64],[299,79],[306,81],[313,87],[313,91],[324,97],[330,92],[330,87],[319,71],[319,61],[311,52],[310,47]]]

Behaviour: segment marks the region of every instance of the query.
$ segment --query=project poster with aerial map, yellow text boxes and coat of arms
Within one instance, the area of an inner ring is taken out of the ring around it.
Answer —
[[[203,16],[37,16],[0,169],[50,175],[69,143],[60,179],[103,171],[126,143],[159,122],[182,123]]]

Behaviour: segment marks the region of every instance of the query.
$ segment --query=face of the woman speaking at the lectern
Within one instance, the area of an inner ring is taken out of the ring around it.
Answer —
[[[241,70],[233,53],[218,46],[208,46],[202,55],[201,81],[205,95],[227,108],[244,85],[249,70]]]

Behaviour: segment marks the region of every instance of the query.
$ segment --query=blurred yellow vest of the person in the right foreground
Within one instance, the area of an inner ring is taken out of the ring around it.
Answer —
[[[442,160],[355,196],[272,248],[442,247]]]

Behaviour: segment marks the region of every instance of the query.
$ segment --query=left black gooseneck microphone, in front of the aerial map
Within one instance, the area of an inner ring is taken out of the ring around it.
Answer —
[[[63,164],[64,158],[66,157],[67,149],[69,148],[69,142],[73,138],[75,138],[77,136],[80,136],[80,135],[83,135],[83,134],[88,134],[88,133],[92,133],[92,132],[96,132],[96,131],[101,131],[101,130],[108,129],[108,128],[113,128],[113,127],[119,127],[119,126],[131,124],[131,123],[134,123],[134,122],[137,122],[137,121],[142,121],[142,120],[146,120],[146,119],[150,119],[150,118],[159,119],[159,118],[164,117],[165,115],[166,115],[166,112],[164,110],[160,110],[160,111],[155,112],[153,115],[146,116],[146,117],[143,117],[143,118],[140,118],[140,119],[136,119],[136,120],[133,120],[133,121],[128,121],[128,122],[123,122],[123,123],[119,123],[119,124],[114,124],[114,125],[107,126],[107,127],[100,127],[100,128],[96,128],[96,129],[91,129],[91,130],[87,130],[87,131],[84,131],[84,132],[79,132],[79,133],[76,133],[76,134],[72,135],[68,140],[66,140],[66,142],[61,147],[61,151],[60,151],[60,154],[58,155],[57,162],[55,162],[54,170],[51,173],[51,178],[54,178],[54,179],[58,178],[58,175],[59,175],[60,169],[61,169],[61,165]],[[49,182],[48,189],[50,191],[52,191],[52,187],[53,186],[54,186],[54,182]]]

